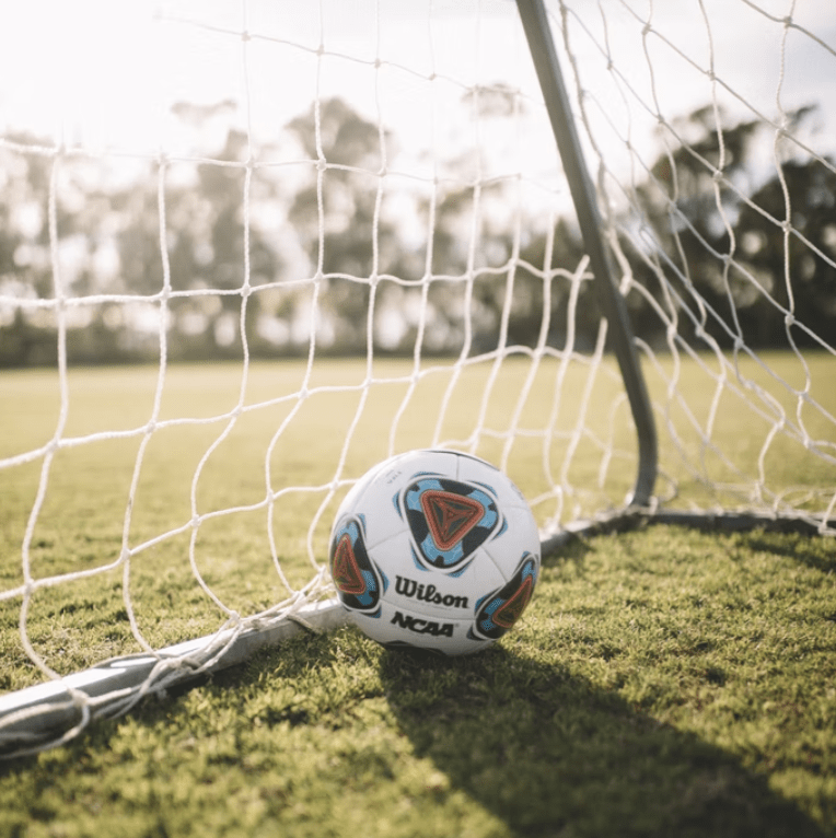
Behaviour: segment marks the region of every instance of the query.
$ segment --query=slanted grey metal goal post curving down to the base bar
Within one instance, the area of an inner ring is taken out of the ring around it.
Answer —
[[[589,176],[569,96],[543,0],[516,0],[525,37],[548,112],[558,152],[569,183],[583,244],[594,273],[594,287],[609,325],[608,337],[624,379],[638,435],[639,464],[629,503],[647,507],[658,468],[657,430],[645,377],[639,365],[627,307],[615,282],[613,261],[601,235],[602,219]]]

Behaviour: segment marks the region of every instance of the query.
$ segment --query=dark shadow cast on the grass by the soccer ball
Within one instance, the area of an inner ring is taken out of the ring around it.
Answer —
[[[417,755],[513,835],[824,835],[721,749],[566,670],[388,652],[381,678]]]

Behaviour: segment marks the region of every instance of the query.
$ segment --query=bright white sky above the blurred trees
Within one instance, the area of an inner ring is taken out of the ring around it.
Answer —
[[[487,69],[487,78],[530,72],[524,44],[516,36],[513,4],[509,0],[483,0],[483,16],[475,30],[472,20],[457,14],[461,0],[380,0],[382,14],[392,28],[381,36],[361,26],[361,11],[375,0],[322,0],[327,48],[363,60],[382,58],[467,79],[475,65]],[[433,9],[433,24],[426,8]],[[780,73],[780,25],[753,10],[746,0],[704,0],[711,21],[711,45],[716,71],[734,80],[750,102],[768,116],[776,112]],[[792,11],[793,20],[815,33],[831,50],[836,48],[836,2],[827,0],[757,0],[758,7],[777,19]],[[92,148],[106,146],[153,152],[162,143],[177,150],[188,140],[182,119],[171,105],[178,101],[210,105],[249,96],[252,127],[259,138],[275,138],[288,118],[306,109],[316,83],[320,43],[318,5],[313,0],[298,4],[288,16],[286,0],[26,0],[9,3],[0,28],[0,132],[30,129],[40,135],[62,136],[68,142]],[[625,11],[620,0],[571,0],[590,32],[603,43],[608,38],[612,55],[630,83],[650,91],[641,26]],[[707,66],[711,51],[698,0],[631,0],[642,18],[653,9],[652,25],[670,33],[687,55]],[[606,9],[608,25],[602,28],[600,7]],[[162,12],[163,22],[156,12]],[[246,19],[245,19],[246,15]],[[200,21],[196,27],[179,20]],[[570,18],[570,23],[577,22]],[[241,39],[220,33],[247,28],[269,38],[289,38],[303,47],[288,49],[277,42],[255,39],[248,50],[248,85],[243,84]],[[429,39],[431,34],[431,42]],[[479,46],[477,39],[479,37]],[[432,46],[431,59],[425,49]],[[705,104],[706,79],[687,69],[658,37],[650,37],[657,94],[670,113],[687,113]],[[786,42],[781,104],[791,108],[818,102],[822,151],[836,136],[836,57],[813,39],[791,31]],[[612,84],[607,86],[600,51],[572,28],[572,49],[579,59],[593,59],[604,82],[600,109],[619,108]],[[309,50],[309,51],[305,51]],[[341,92],[369,113],[376,106],[375,88],[369,80],[373,69],[358,61],[325,61],[321,65],[321,91]],[[384,92],[385,107],[413,108],[409,77],[391,77]],[[588,77],[596,83],[595,71]],[[699,92],[697,92],[699,85]],[[360,94],[365,91],[365,94]],[[398,93],[402,95],[395,95]],[[647,93],[645,94],[647,95]],[[733,104],[733,102],[732,102]],[[385,110],[385,108],[384,108]],[[829,112],[829,115],[827,115]],[[245,107],[235,116],[243,125]],[[420,114],[416,114],[416,119]],[[416,130],[420,130],[416,128]],[[194,136],[193,136],[194,139]],[[836,144],[836,143],[833,143]]]

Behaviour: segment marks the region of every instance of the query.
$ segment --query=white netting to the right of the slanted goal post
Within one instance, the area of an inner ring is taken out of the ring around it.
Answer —
[[[809,3],[639,5],[597,20],[585,7],[560,12],[622,287],[658,317],[637,331],[665,393],[661,467],[686,505],[812,513],[815,524],[832,516],[836,463],[828,24]],[[631,60],[618,55],[627,43]],[[606,67],[601,88],[584,82],[578,49]],[[652,154],[637,146],[647,120]],[[692,381],[710,393],[704,404]],[[720,442],[730,427],[740,443]],[[823,480],[778,477],[782,459],[809,454]]]

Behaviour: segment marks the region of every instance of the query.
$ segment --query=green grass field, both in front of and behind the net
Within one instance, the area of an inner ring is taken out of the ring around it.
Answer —
[[[782,370],[788,379],[798,373],[793,363]],[[832,361],[815,364],[824,384],[814,395],[836,414]],[[274,540],[282,568],[293,584],[310,575],[309,523],[318,511],[310,538],[321,558],[347,432],[356,424],[345,446],[351,478],[385,454],[409,369],[392,362],[375,371],[391,383],[369,391],[355,422],[365,369],[325,365],[274,449],[293,409],[277,394],[302,386],[303,365],[255,365],[243,397],[240,366],[169,371],[163,427],[147,444],[129,527],[132,548],[148,545],[132,559],[130,600],[150,642],[206,633],[223,617],[195,582],[189,532],[178,532],[193,504],[207,516],[199,570],[225,606],[247,614],[285,596],[265,526],[267,485],[281,500]],[[449,373],[421,380],[395,445],[428,444],[433,434],[467,440],[484,408],[478,450],[496,459],[525,369],[503,369],[485,405],[474,394],[490,368],[465,371],[440,429]],[[88,442],[55,456],[31,544],[33,577],[108,568],[118,558],[143,437],[90,434],[143,428],[155,375],[137,368],[69,376],[62,435]],[[547,403],[525,403],[523,428],[554,406],[554,387],[544,385],[554,370],[538,375],[534,392]],[[699,389],[697,375],[685,377],[694,409],[705,411],[710,384]],[[56,385],[46,371],[0,375],[0,458],[53,437]],[[651,382],[654,395],[660,387]],[[628,423],[603,407],[614,388],[603,376],[592,394],[594,433],[579,441],[568,477],[572,486],[594,484],[612,454],[602,492],[617,502],[630,486],[632,454]],[[222,435],[237,404],[264,406],[245,409]],[[576,409],[560,404],[559,427],[573,426]],[[178,416],[206,421],[165,423]],[[732,411],[718,422],[715,439],[742,458],[759,450],[759,431],[753,423],[741,434],[735,419]],[[826,423],[811,419],[809,430],[836,441]],[[569,444],[555,441],[555,470]],[[531,497],[547,489],[541,451],[542,437],[532,435],[509,461]],[[785,485],[836,482],[832,469],[808,467],[780,443],[768,458]],[[42,463],[0,469],[2,590],[22,583],[21,544]],[[285,493],[303,484],[317,489]],[[553,515],[555,502],[539,504],[538,517]],[[579,491],[560,502],[585,499]],[[172,535],[151,543],[163,533]],[[65,747],[1,765],[0,835],[836,835],[834,571],[832,538],[649,526],[576,542],[544,560],[524,620],[478,656],[385,651],[352,628],[302,635],[97,723]],[[2,689],[40,679],[19,621],[20,597],[0,602]],[[59,672],[135,651],[123,569],[39,591],[27,633]]]

